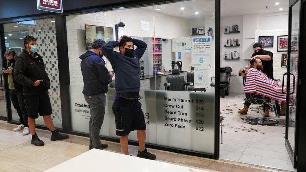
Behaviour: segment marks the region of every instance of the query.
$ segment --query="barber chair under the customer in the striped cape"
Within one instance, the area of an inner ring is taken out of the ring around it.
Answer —
[[[261,105],[258,107],[258,117],[248,117],[245,119],[246,122],[252,123],[252,124],[260,124],[260,125],[275,125],[278,124],[278,121],[272,118],[265,117],[264,113],[264,105],[269,104],[273,106],[273,110],[275,112],[275,116],[279,117],[276,110],[276,104],[275,101],[271,98],[261,96],[259,94],[255,93],[247,93],[245,94],[246,101],[250,102],[251,104]]]

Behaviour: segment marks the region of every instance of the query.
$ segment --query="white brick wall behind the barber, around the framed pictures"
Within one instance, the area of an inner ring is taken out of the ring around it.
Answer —
[[[273,53],[273,76],[274,79],[280,79],[282,83],[282,76],[287,71],[287,68],[281,67],[282,54],[287,52],[277,52],[277,36],[288,35],[288,29],[273,29],[273,30],[256,30],[255,42],[258,42],[258,36],[274,36],[273,48],[264,48],[264,50],[271,51]]]

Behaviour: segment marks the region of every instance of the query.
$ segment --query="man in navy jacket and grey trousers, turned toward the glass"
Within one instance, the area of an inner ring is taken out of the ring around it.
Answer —
[[[103,149],[108,146],[101,144],[99,133],[105,114],[105,93],[114,74],[106,69],[105,61],[102,59],[104,44],[105,41],[97,39],[93,41],[92,49],[80,56],[84,81],[83,94],[90,107],[89,149]]]

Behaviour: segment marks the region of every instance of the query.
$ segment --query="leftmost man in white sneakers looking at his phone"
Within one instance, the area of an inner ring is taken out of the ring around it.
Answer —
[[[24,95],[23,88],[14,79],[14,67],[17,55],[14,50],[6,50],[4,57],[8,60],[8,70],[3,70],[5,74],[8,74],[8,88],[10,97],[13,103],[13,107],[16,109],[20,125],[14,128],[13,131],[19,131],[23,129],[22,135],[28,135],[30,133],[30,128],[28,125],[28,114],[24,105]]]

